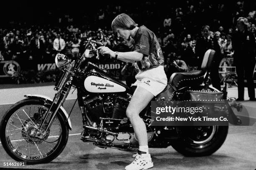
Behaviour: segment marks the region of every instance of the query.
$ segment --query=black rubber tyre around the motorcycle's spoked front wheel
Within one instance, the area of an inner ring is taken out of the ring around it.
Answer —
[[[57,112],[56,118],[59,120],[59,123],[61,126],[61,135],[59,135],[59,138],[61,138],[61,139],[58,138],[59,140],[57,140],[56,146],[53,147],[53,151],[50,152],[49,155],[46,154],[45,157],[41,156],[42,158],[33,160],[32,158],[29,158],[30,156],[26,157],[24,155],[20,155],[18,152],[14,152],[14,149],[11,148],[11,146],[10,146],[10,142],[8,143],[9,137],[7,138],[7,136],[6,136],[6,133],[7,133],[6,126],[8,125],[9,119],[21,107],[29,106],[29,105],[41,105],[43,107],[47,107],[48,109],[50,106],[50,105],[45,105],[44,102],[42,102],[41,100],[36,100],[36,99],[25,99],[25,100],[21,100],[21,101],[15,103],[15,105],[13,105],[3,116],[3,119],[0,124],[0,131],[2,132],[2,133],[0,133],[0,139],[1,139],[1,142],[3,145],[3,148],[8,153],[8,155],[10,155],[10,157],[12,157],[14,160],[26,161],[27,164],[48,163],[51,160],[54,160],[64,150],[64,148],[67,144],[68,137],[69,137],[69,129],[68,129],[67,125],[65,124],[64,116],[60,112]],[[26,122],[26,121],[24,121],[24,122]],[[24,125],[23,125],[23,127],[24,127]],[[20,127],[18,127],[18,128],[20,128]],[[24,138],[23,140],[26,140],[26,139]],[[42,142],[42,143],[46,143],[46,142]],[[33,145],[33,144],[31,144],[31,145]],[[28,144],[28,146],[29,146],[29,144]],[[40,150],[39,150],[39,152],[40,152]],[[26,159],[26,158],[29,158],[29,159]]]

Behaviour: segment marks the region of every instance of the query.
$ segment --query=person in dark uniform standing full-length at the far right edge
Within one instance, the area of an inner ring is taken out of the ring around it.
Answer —
[[[237,20],[237,31],[233,35],[234,64],[238,80],[238,101],[244,100],[244,75],[247,80],[248,95],[255,101],[253,69],[255,65],[256,42],[252,32],[248,31],[248,20],[240,17]]]

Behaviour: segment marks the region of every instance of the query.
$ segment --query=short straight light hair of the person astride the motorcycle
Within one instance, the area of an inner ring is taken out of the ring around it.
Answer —
[[[112,30],[114,32],[116,32],[117,28],[133,30],[133,28],[135,28],[136,26],[138,26],[138,24],[136,24],[134,22],[134,20],[131,19],[131,17],[129,15],[124,14],[124,13],[116,16],[111,24]]]

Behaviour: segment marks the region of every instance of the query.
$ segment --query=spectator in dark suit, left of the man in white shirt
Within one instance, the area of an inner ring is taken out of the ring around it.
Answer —
[[[44,58],[45,45],[40,39],[39,35],[36,34],[31,40],[31,55],[36,60],[42,60]]]

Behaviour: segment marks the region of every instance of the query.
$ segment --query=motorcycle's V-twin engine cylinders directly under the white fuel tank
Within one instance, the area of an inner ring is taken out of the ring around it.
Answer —
[[[115,94],[102,94],[84,97],[84,105],[92,122],[100,124],[100,117],[123,119],[129,101]],[[103,120],[104,127],[114,127],[120,120]]]

